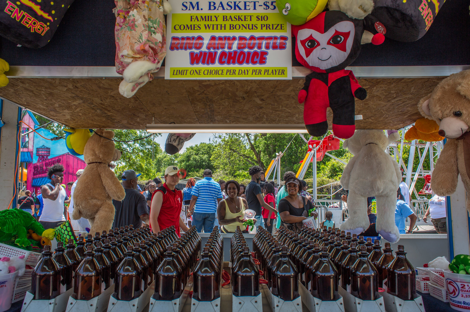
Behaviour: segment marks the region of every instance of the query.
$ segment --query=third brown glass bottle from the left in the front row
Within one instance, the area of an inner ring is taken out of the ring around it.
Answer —
[[[132,246],[127,246],[124,259],[116,268],[114,296],[118,300],[131,301],[141,295],[142,269],[134,259]]]

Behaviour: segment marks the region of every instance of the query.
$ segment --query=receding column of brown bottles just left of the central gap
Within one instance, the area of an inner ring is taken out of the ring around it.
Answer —
[[[214,227],[193,272],[193,296],[197,301],[212,301],[220,297],[223,272],[223,238]]]

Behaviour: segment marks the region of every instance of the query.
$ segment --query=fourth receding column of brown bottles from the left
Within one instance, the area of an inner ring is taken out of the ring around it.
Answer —
[[[166,246],[163,260],[156,269],[154,299],[174,300],[181,296],[199,257],[200,245],[201,238],[193,226],[172,245]]]

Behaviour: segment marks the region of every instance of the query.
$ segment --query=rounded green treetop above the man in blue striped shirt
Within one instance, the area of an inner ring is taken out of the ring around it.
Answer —
[[[201,169],[214,170],[211,161],[214,146],[210,143],[200,143],[189,146],[180,154],[178,166],[188,172],[188,176],[196,176]]]

